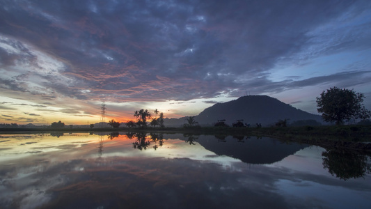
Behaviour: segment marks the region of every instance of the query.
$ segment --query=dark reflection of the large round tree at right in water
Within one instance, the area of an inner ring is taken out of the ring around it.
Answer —
[[[342,180],[360,178],[371,172],[370,157],[349,150],[326,150],[322,164],[332,176]]]

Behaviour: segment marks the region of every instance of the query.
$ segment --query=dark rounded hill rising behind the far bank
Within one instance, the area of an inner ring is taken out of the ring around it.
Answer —
[[[166,126],[180,126],[187,123],[186,118],[171,118],[164,122]],[[217,103],[195,117],[200,125],[213,125],[224,119],[228,125],[237,120],[244,120],[243,123],[251,124],[252,127],[255,127],[256,123],[263,126],[274,125],[285,118],[289,119],[288,123],[303,120],[323,123],[321,116],[302,111],[267,95],[247,95],[230,102]]]

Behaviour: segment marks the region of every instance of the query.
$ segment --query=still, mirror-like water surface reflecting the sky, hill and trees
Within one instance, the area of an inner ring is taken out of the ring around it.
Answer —
[[[267,137],[0,134],[0,208],[370,208],[370,159]]]

